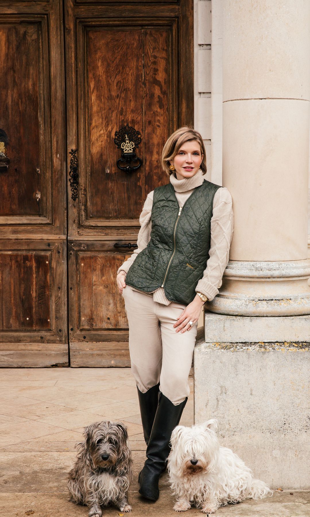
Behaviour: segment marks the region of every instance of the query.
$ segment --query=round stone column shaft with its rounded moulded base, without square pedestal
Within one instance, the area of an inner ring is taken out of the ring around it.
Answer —
[[[310,3],[224,1],[223,185],[234,201],[220,314],[310,314]]]

